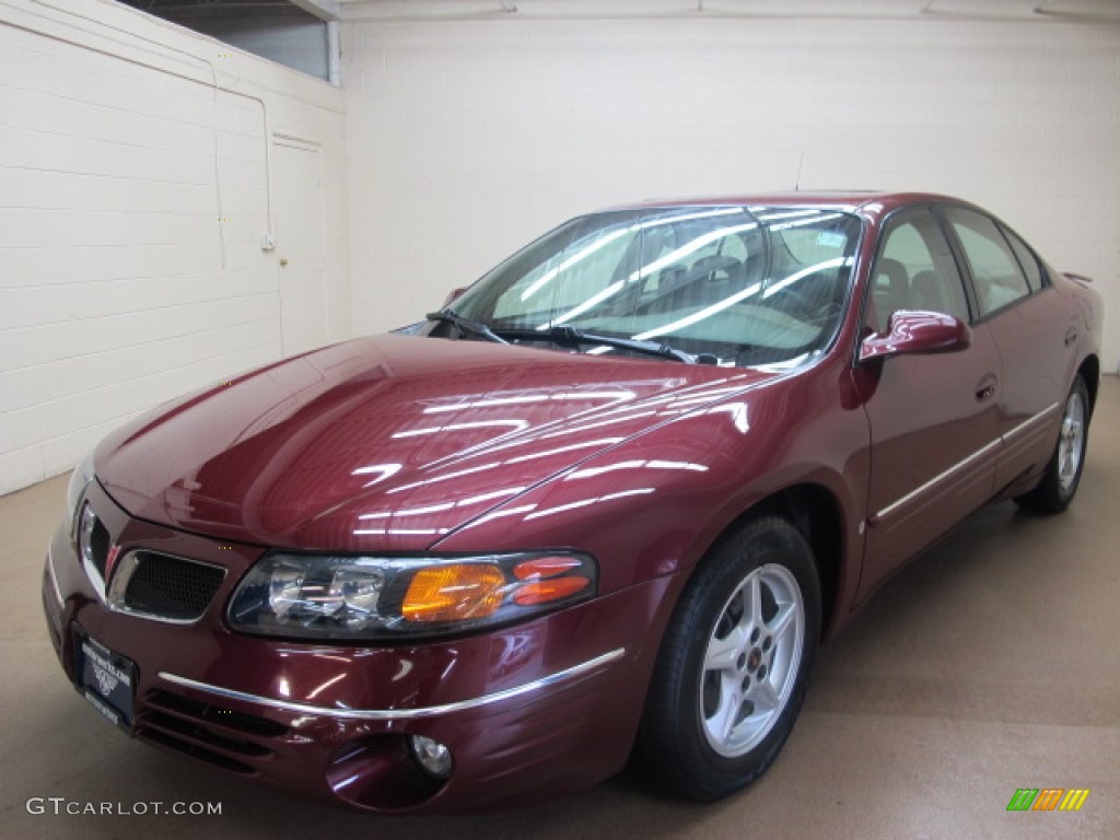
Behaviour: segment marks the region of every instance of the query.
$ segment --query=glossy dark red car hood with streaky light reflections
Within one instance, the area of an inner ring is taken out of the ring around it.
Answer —
[[[99,446],[134,516],[297,549],[414,551],[774,374],[402,335],[253,371]]]

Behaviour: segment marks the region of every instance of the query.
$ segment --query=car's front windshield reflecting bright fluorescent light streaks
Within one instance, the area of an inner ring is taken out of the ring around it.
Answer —
[[[635,352],[586,340],[610,337],[708,364],[799,364],[839,328],[859,230],[827,208],[598,213],[514,254],[450,309],[517,344]]]

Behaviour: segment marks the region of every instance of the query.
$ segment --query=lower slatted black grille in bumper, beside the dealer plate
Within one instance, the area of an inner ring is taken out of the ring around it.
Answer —
[[[283,724],[167,691],[148,692],[137,713],[138,738],[242,775],[256,773],[249,762],[270,758],[268,740],[287,734]]]

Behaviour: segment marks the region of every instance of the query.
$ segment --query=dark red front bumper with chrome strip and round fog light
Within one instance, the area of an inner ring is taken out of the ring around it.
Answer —
[[[108,497],[105,497],[108,500]],[[532,804],[625,764],[666,589],[656,579],[524,625],[381,647],[231,633],[224,605],[261,549],[221,544],[109,508],[113,539],[226,560],[207,613],[170,624],[109,609],[64,528],[43,581],[56,652],[76,683],[75,628],[136,663],[129,731],[164,750],[287,793],[386,812]],[[424,774],[409,736],[449,747],[447,780]]]

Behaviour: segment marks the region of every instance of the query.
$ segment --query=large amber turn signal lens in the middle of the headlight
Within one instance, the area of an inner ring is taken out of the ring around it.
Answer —
[[[407,622],[486,618],[505,596],[505,575],[489,563],[452,563],[420,569],[401,605]]]

